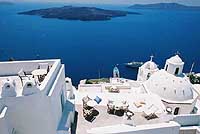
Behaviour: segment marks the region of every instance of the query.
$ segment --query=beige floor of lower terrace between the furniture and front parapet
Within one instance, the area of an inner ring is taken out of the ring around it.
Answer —
[[[83,107],[78,104],[75,106],[75,110],[78,112],[77,115],[77,134],[87,134],[87,130],[95,127],[105,127],[111,125],[124,124],[126,118],[124,116],[117,116],[107,113],[107,106],[95,106],[95,109],[99,112],[99,115],[92,122],[87,121],[83,117]],[[161,118],[147,120],[144,118],[142,113],[134,113],[133,124],[134,125],[144,125],[164,122]],[[134,126],[133,126],[134,127]]]

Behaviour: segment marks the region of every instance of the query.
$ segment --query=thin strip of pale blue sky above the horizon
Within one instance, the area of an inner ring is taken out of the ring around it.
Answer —
[[[160,2],[176,2],[185,5],[200,6],[200,0],[0,0],[12,2],[66,2],[83,4],[149,4]]]

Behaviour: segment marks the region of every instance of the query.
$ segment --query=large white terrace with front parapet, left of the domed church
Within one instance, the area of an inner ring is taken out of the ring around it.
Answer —
[[[81,81],[75,96],[75,109],[78,112],[77,133],[195,134],[199,130],[199,110],[197,114],[174,116],[167,111],[158,95],[149,93],[138,81],[124,78],[111,78],[109,83],[99,84],[85,84]],[[97,96],[102,99],[99,104],[93,105],[98,115],[92,121],[84,117],[82,99],[86,96],[92,101]],[[134,113],[132,119],[128,120],[126,114],[117,116],[108,113],[110,101],[114,102],[115,107],[123,106],[120,102],[127,102],[128,110]],[[198,105],[199,100],[196,106],[199,109]],[[152,113],[155,113],[157,118],[149,120],[145,117]]]

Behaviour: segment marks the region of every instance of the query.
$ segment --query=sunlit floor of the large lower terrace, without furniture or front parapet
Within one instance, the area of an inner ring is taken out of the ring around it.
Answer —
[[[98,90],[98,89],[97,89]],[[75,92],[75,110],[78,112],[77,115],[77,134],[86,134],[87,131],[91,128],[105,127],[112,125],[125,124],[127,122],[126,114],[116,115],[109,114],[108,102],[124,102],[128,103],[128,110],[134,113],[134,116],[131,119],[132,125],[145,125],[145,124],[156,124],[168,122],[172,119],[171,116],[167,116],[165,113],[165,107],[163,106],[161,100],[154,95],[149,95],[146,93],[135,92],[139,90],[137,87],[135,89],[127,89],[127,92],[123,91],[120,93],[109,93],[106,91],[96,92],[92,89],[80,90]],[[128,91],[129,90],[129,91]],[[90,92],[91,91],[91,92]],[[89,98],[94,99],[96,96],[101,98],[101,102],[94,106],[94,109],[97,111],[97,116],[92,121],[85,119],[83,115],[83,101],[82,99],[88,96]],[[151,110],[150,110],[151,109]],[[153,111],[152,111],[153,110]],[[146,119],[145,116],[150,114],[148,112],[156,113],[158,118],[155,119]]]

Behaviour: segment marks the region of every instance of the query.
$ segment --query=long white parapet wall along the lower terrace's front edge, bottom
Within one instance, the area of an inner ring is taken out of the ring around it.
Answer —
[[[179,134],[180,125],[174,121],[151,125],[128,126],[124,124],[97,127],[88,130],[89,134]]]

